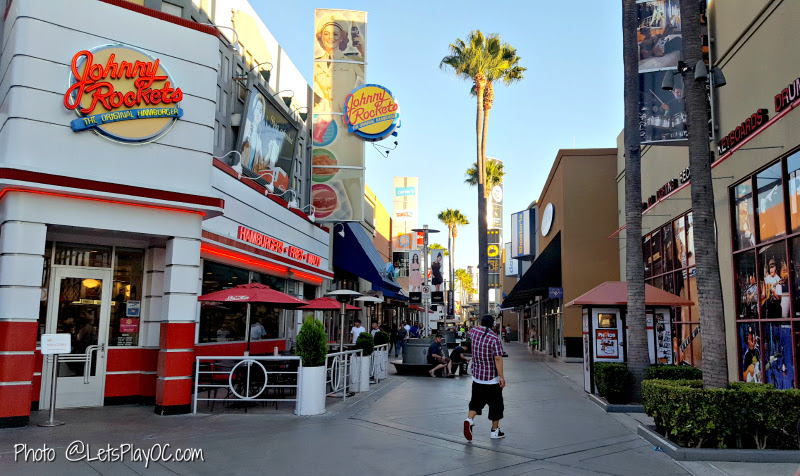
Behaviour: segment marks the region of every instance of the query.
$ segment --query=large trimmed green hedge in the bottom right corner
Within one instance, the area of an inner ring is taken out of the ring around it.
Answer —
[[[800,390],[702,380],[645,380],[642,403],[656,430],[687,447],[798,449]]]

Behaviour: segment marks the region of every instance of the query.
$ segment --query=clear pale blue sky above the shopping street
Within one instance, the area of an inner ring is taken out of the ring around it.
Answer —
[[[456,268],[478,263],[477,190],[464,183],[476,160],[477,105],[471,83],[439,67],[457,38],[497,33],[527,68],[520,83],[495,86],[489,116],[486,155],[506,172],[505,242],[511,213],[539,198],[559,149],[616,147],[622,131],[622,2],[249,1],[309,84],[314,9],[368,12],[367,82],[392,91],[402,127],[388,158],[366,147],[366,183],[391,213],[393,177],[419,177],[419,225],[442,230],[431,241],[444,246],[436,216],[459,209],[470,224],[458,231]]]

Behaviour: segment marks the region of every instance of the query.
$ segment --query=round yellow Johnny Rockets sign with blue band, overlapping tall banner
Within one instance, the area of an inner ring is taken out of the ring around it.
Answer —
[[[350,132],[364,139],[385,139],[397,128],[399,120],[400,105],[383,86],[365,84],[345,98],[344,123]]]

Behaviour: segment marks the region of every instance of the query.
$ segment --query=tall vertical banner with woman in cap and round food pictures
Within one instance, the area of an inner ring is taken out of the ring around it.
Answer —
[[[364,217],[364,140],[348,131],[345,104],[364,85],[367,14],[314,12],[311,200],[321,222]]]

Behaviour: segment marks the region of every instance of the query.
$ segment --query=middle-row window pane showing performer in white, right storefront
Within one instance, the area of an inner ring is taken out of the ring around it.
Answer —
[[[781,241],[758,250],[761,288],[761,318],[789,317],[789,269],[786,264],[786,244]]]

